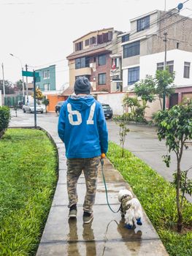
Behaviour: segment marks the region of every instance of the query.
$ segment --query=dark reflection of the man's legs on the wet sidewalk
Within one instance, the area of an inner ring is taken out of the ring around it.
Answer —
[[[69,219],[69,233],[67,236],[68,240],[68,256],[81,256],[82,248],[80,246],[80,251],[78,248],[78,243],[85,244],[86,256],[96,256],[96,242],[93,234],[93,228],[91,227],[91,223],[83,224],[82,227],[82,238],[84,241],[78,242],[78,234],[77,234],[77,219]],[[81,253],[80,253],[81,252]]]

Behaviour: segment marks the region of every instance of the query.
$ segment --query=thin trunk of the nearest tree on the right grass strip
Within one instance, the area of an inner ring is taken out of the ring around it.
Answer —
[[[183,214],[182,209],[180,206],[180,177],[181,177],[181,170],[180,170],[180,158],[177,157],[177,231],[181,232],[183,227]]]

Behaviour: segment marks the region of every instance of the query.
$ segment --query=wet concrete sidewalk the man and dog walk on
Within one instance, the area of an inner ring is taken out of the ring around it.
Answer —
[[[168,255],[145,213],[143,225],[128,230],[124,227],[125,223],[120,213],[113,214],[110,211],[107,206],[101,170],[99,170],[96,203],[93,207],[93,222],[86,225],[82,222],[82,203],[85,197],[83,176],[80,176],[77,185],[79,196],[77,220],[68,220],[64,143],[54,131],[49,132],[58,148],[59,178],[37,256]],[[120,189],[128,188],[128,184],[107,159],[104,160],[104,174],[109,201],[116,211],[120,206],[118,192]]]

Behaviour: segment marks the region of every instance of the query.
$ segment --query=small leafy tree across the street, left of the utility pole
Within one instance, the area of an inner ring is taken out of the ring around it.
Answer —
[[[155,80],[152,75],[146,75],[145,79],[135,83],[134,92],[142,99],[142,112],[144,117],[147,102],[153,102],[155,99]]]

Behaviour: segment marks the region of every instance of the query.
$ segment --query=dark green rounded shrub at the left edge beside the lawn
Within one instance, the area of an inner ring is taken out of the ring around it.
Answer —
[[[9,125],[10,118],[10,109],[7,106],[0,107],[0,139]]]

